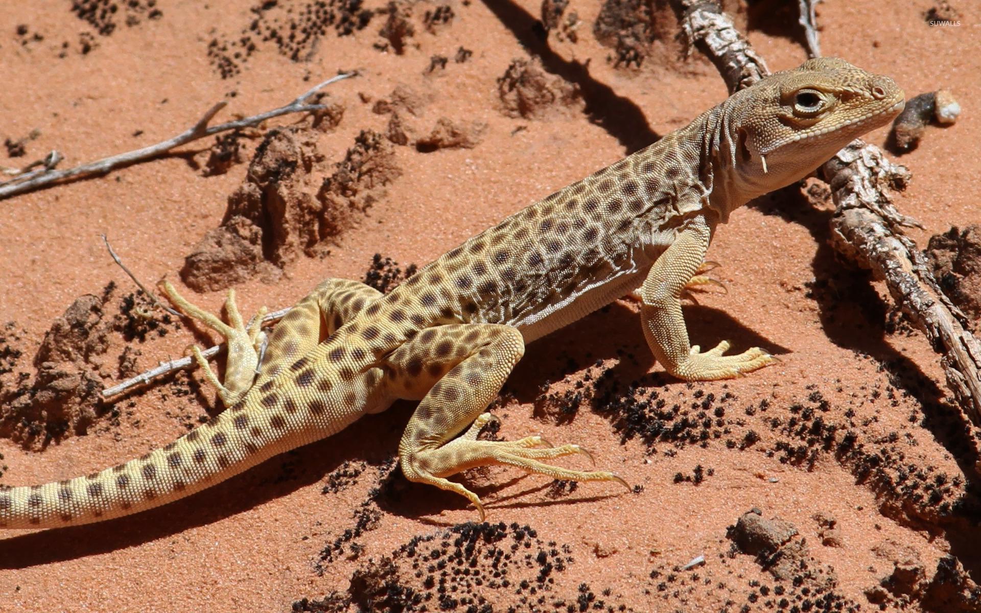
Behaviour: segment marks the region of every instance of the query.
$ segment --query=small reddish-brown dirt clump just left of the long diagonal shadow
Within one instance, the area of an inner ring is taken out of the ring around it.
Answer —
[[[547,75],[537,58],[518,58],[497,79],[497,94],[508,117],[541,119],[582,100],[578,85]]]

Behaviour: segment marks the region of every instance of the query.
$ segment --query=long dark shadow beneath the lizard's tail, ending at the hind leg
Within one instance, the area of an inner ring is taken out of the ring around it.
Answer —
[[[391,410],[404,413],[396,407]],[[365,416],[348,427],[346,435],[288,451],[226,482],[155,509],[105,522],[5,537],[0,539],[0,569],[74,560],[180,534],[315,485],[344,461],[381,464],[397,448],[407,420],[407,414],[394,420],[390,413]]]

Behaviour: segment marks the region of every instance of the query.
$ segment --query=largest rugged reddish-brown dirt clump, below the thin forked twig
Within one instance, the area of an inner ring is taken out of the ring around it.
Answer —
[[[181,279],[196,290],[223,289],[259,276],[275,281],[299,255],[326,255],[399,175],[390,145],[362,131],[334,173],[327,172],[313,128],[270,131],[242,184],[229,196],[222,225],[188,255]]]

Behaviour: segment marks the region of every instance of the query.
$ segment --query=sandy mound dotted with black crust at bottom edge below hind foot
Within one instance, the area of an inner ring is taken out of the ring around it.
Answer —
[[[304,598],[294,611],[633,611],[587,584],[560,591],[556,578],[575,563],[568,544],[543,541],[530,526],[466,523],[415,536],[381,559],[362,563],[344,592]],[[608,608],[609,607],[609,608]]]

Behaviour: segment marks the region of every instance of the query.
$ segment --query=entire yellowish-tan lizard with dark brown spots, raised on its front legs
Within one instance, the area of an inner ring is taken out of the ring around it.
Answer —
[[[159,506],[336,434],[397,398],[421,400],[399,444],[405,476],[465,496],[482,516],[478,497],[446,477],[504,464],[623,483],[543,462],[585,453],[578,445],[477,440],[525,343],[640,287],[647,342],[672,375],[724,379],[765,366],[773,358],[758,348],[725,356],[728,343],[705,352],[689,343],[679,297],[704,282],[697,274],[716,225],[892,120],[903,99],[888,77],[837,59],[767,77],[474,236],[387,295],[354,281],[322,282],[272,332],[255,381],[262,332],[243,328],[233,297],[226,326],[168,285],[185,313],[229,338],[220,386],[228,410],[100,473],[5,487],[0,526],[57,528]]]

